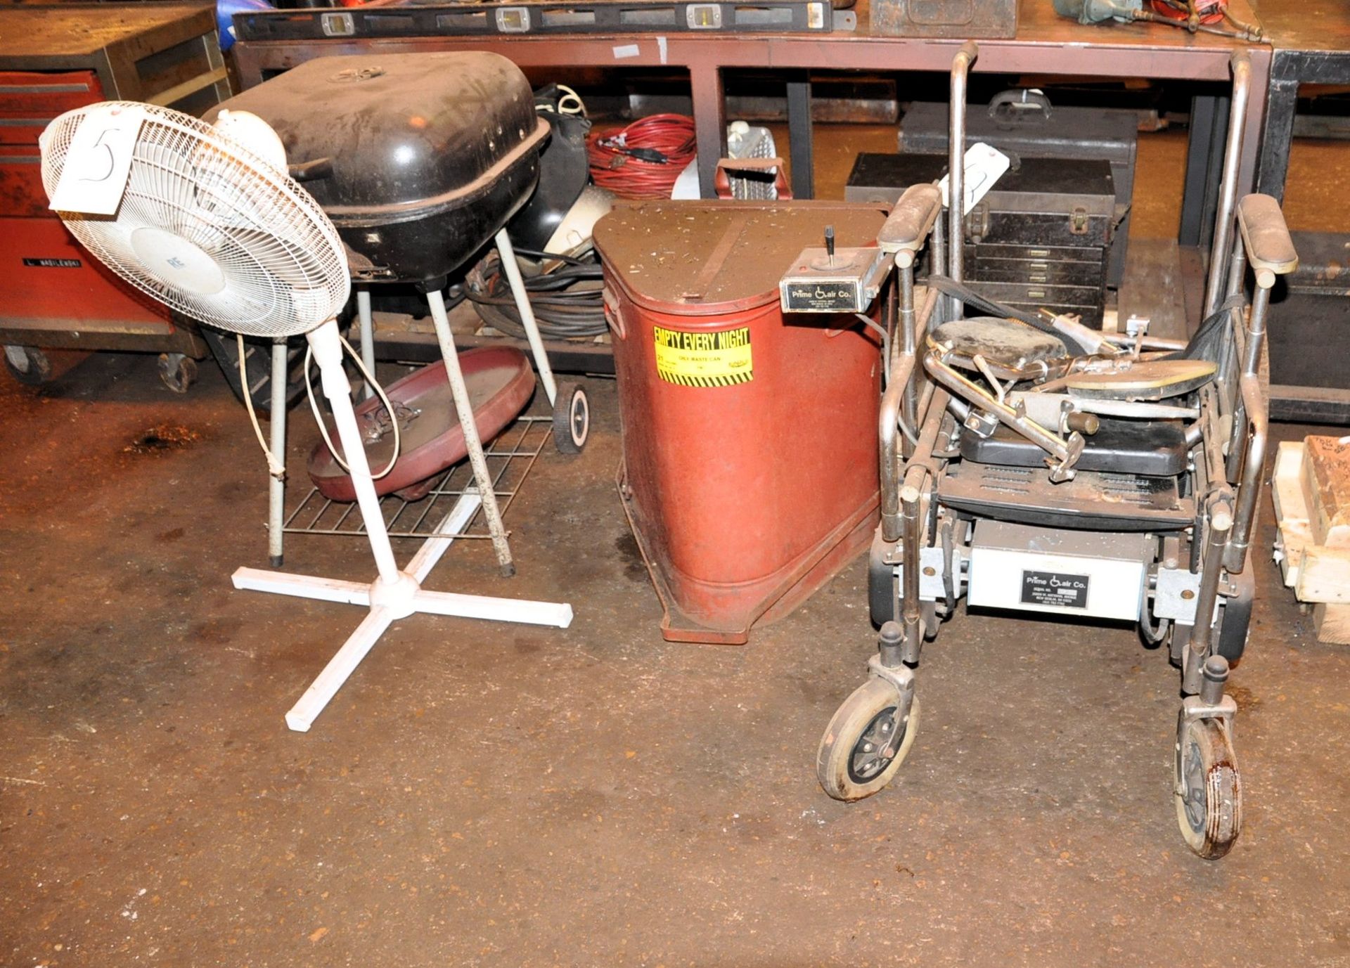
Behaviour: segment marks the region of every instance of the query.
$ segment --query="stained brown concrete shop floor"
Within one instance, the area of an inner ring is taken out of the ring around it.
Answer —
[[[219,373],[176,397],[148,356],[62,366],[0,379],[3,965],[1350,965],[1350,651],[1264,555],[1220,863],[1176,830],[1176,672],[1126,629],[959,616],[900,779],[830,801],[863,562],[748,648],[663,643],[606,381],[587,451],[512,509],[518,575],[470,543],[431,581],[574,625],[405,620],[300,734],[360,613],[231,589],[265,473]],[[286,564],[371,575],[347,539]]]

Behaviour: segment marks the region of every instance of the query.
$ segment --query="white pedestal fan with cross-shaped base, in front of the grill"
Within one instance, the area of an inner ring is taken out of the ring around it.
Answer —
[[[477,510],[475,501],[456,505],[439,536],[428,539],[406,568],[398,568],[342,367],[335,316],[351,288],[343,246],[323,209],[281,167],[285,159],[273,157],[270,139],[250,138],[250,144],[256,143],[266,158],[188,115],[107,101],[66,112],[47,126],[40,139],[42,181],[54,205],[81,197],[80,192],[72,196],[73,188],[96,188],[104,203],[113,196],[104,208],[84,208],[112,215],[61,211],[61,217],[89,251],[132,285],[208,325],[273,339],[304,333],[313,348],[378,576],[359,583],[263,572],[265,581],[250,581],[250,587],[266,591],[370,608],[286,714],[292,729],[306,730],[398,618],[429,612],[567,628],[572,609],[421,589],[452,533]]]

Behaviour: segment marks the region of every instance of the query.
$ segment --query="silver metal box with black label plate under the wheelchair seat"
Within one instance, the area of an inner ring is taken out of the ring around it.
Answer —
[[[979,521],[967,601],[991,609],[1137,621],[1154,544],[1143,533]]]

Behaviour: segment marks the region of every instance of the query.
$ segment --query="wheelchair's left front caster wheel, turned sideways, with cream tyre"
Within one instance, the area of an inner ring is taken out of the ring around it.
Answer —
[[[895,687],[883,679],[868,679],[844,701],[815,755],[815,775],[825,792],[837,801],[859,801],[891,782],[919,725],[918,697],[909,716],[898,722],[899,702]]]

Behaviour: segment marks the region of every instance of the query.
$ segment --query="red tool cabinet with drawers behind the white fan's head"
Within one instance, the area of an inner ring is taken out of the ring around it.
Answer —
[[[94,101],[200,113],[228,93],[208,4],[0,8],[0,344],[204,355],[194,329],[117,279],[47,209],[38,136]]]

